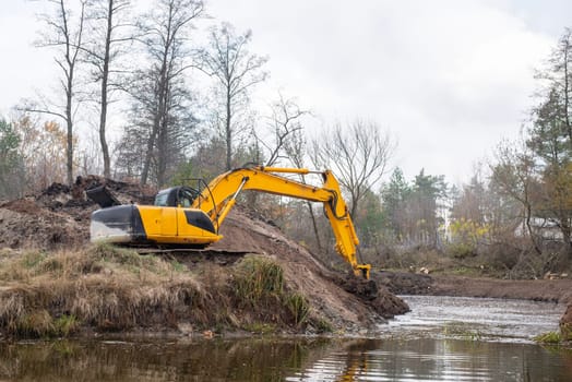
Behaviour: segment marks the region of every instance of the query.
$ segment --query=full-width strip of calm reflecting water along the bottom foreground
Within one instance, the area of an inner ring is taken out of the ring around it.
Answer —
[[[572,354],[458,339],[0,345],[4,381],[570,381]]]

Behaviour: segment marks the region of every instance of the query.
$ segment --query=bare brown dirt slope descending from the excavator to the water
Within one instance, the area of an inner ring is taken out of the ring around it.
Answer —
[[[384,286],[326,268],[307,249],[286,238],[278,228],[249,218],[240,208],[227,217],[221,232],[224,238],[212,248],[274,258],[284,270],[291,288],[307,296],[310,305],[320,309],[331,321],[341,322],[347,329],[355,329],[353,326],[359,323],[379,323],[378,314],[391,318],[409,310],[402,299]]]

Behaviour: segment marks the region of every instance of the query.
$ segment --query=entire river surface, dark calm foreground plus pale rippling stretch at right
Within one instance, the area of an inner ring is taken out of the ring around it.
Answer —
[[[413,312],[369,339],[3,343],[0,381],[572,381],[571,350],[529,341],[557,329],[561,306],[405,299]]]

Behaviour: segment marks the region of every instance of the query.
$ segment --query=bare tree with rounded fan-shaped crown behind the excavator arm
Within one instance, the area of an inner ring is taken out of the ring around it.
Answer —
[[[330,168],[349,193],[351,215],[359,201],[385,174],[394,144],[374,122],[356,120],[348,127],[337,123],[312,142],[312,160]]]

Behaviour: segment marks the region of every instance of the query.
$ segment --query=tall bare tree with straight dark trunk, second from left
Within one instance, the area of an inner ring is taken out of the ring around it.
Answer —
[[[111,92],[117,87],[112,76],[118,73],[117,61],[124,43],[132,40],[127,33],[130,0],[87,0],[90,34],[84,51],[94,71],[92,77],[99,83],[99,144],[104,159],[104,176],[111,176],[111,160],[106,139],[107,114]]]

